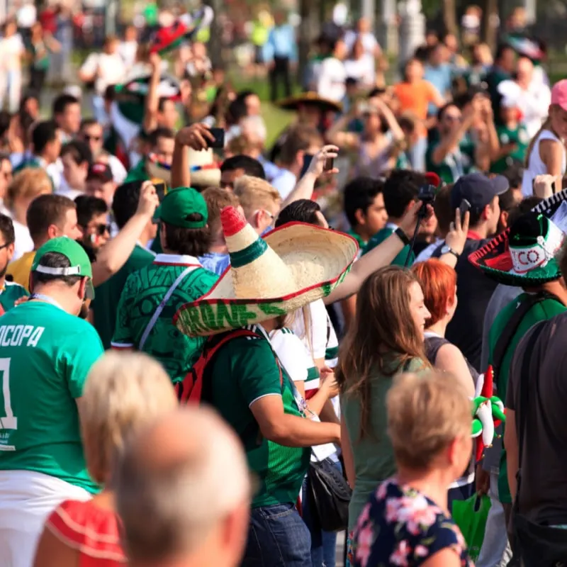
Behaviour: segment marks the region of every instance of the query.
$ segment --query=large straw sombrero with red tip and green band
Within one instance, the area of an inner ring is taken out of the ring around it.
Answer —
[[[220,213],[230,266],[215,286],[186,303],[174,324],[190,337],[260,323],[323,298],[357,257],[354,238],[304,223],[289,223],[264,239],[242,213]]]

